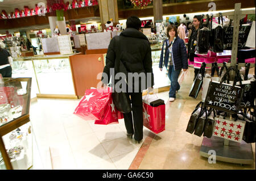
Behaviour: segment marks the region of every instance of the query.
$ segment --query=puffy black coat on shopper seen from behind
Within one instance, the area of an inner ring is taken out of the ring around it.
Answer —
[[[128,73],[151,73],[151,85],[146,87],[154,85],[150,42],[142,32],[126,28],[120,36],[114,36],[110,41],[103,71],[108,75],[108,82],[102,77],[105,84],[110,81],[110,68],[115,69],[115,74],[125,73],[125,70],[117,68],[117,59],[121,60]]]

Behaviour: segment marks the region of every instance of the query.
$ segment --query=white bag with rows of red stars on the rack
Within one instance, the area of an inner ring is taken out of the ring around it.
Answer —
[[[221,117],[215,117],[214,120],[213,136],[236,142],[242,141],[243,131],[245,130],[245,121],[231,121],[222,119]]]

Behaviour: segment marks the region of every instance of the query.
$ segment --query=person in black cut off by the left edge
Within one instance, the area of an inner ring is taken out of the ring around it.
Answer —
[[[0,44],[0,74],[2,74],[2,77],[11,77],[13,58],[10,53],[3,48],[3,45]]]

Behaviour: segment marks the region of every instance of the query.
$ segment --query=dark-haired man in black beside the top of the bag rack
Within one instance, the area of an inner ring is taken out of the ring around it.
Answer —
[[[197,44],[197,33],[199,30],[200,21],[201,21],[200,15],[194,16],[192,33],[188,40],[188,58],[192,62],[194,61],[194,57],[197,57],[195,52],[196,52],[196,44]],[[199,69],[195,68],[194,73],[195,73],[195,76],[194,76],[194,79],[195,79],[196,75],[199,73]]]

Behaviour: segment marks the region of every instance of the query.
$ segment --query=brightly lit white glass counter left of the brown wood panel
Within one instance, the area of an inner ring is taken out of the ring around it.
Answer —
[[[33,56],[15,59],[13,77],[32,77],[31,98],[37,95],[75,95],[70,55]]]

